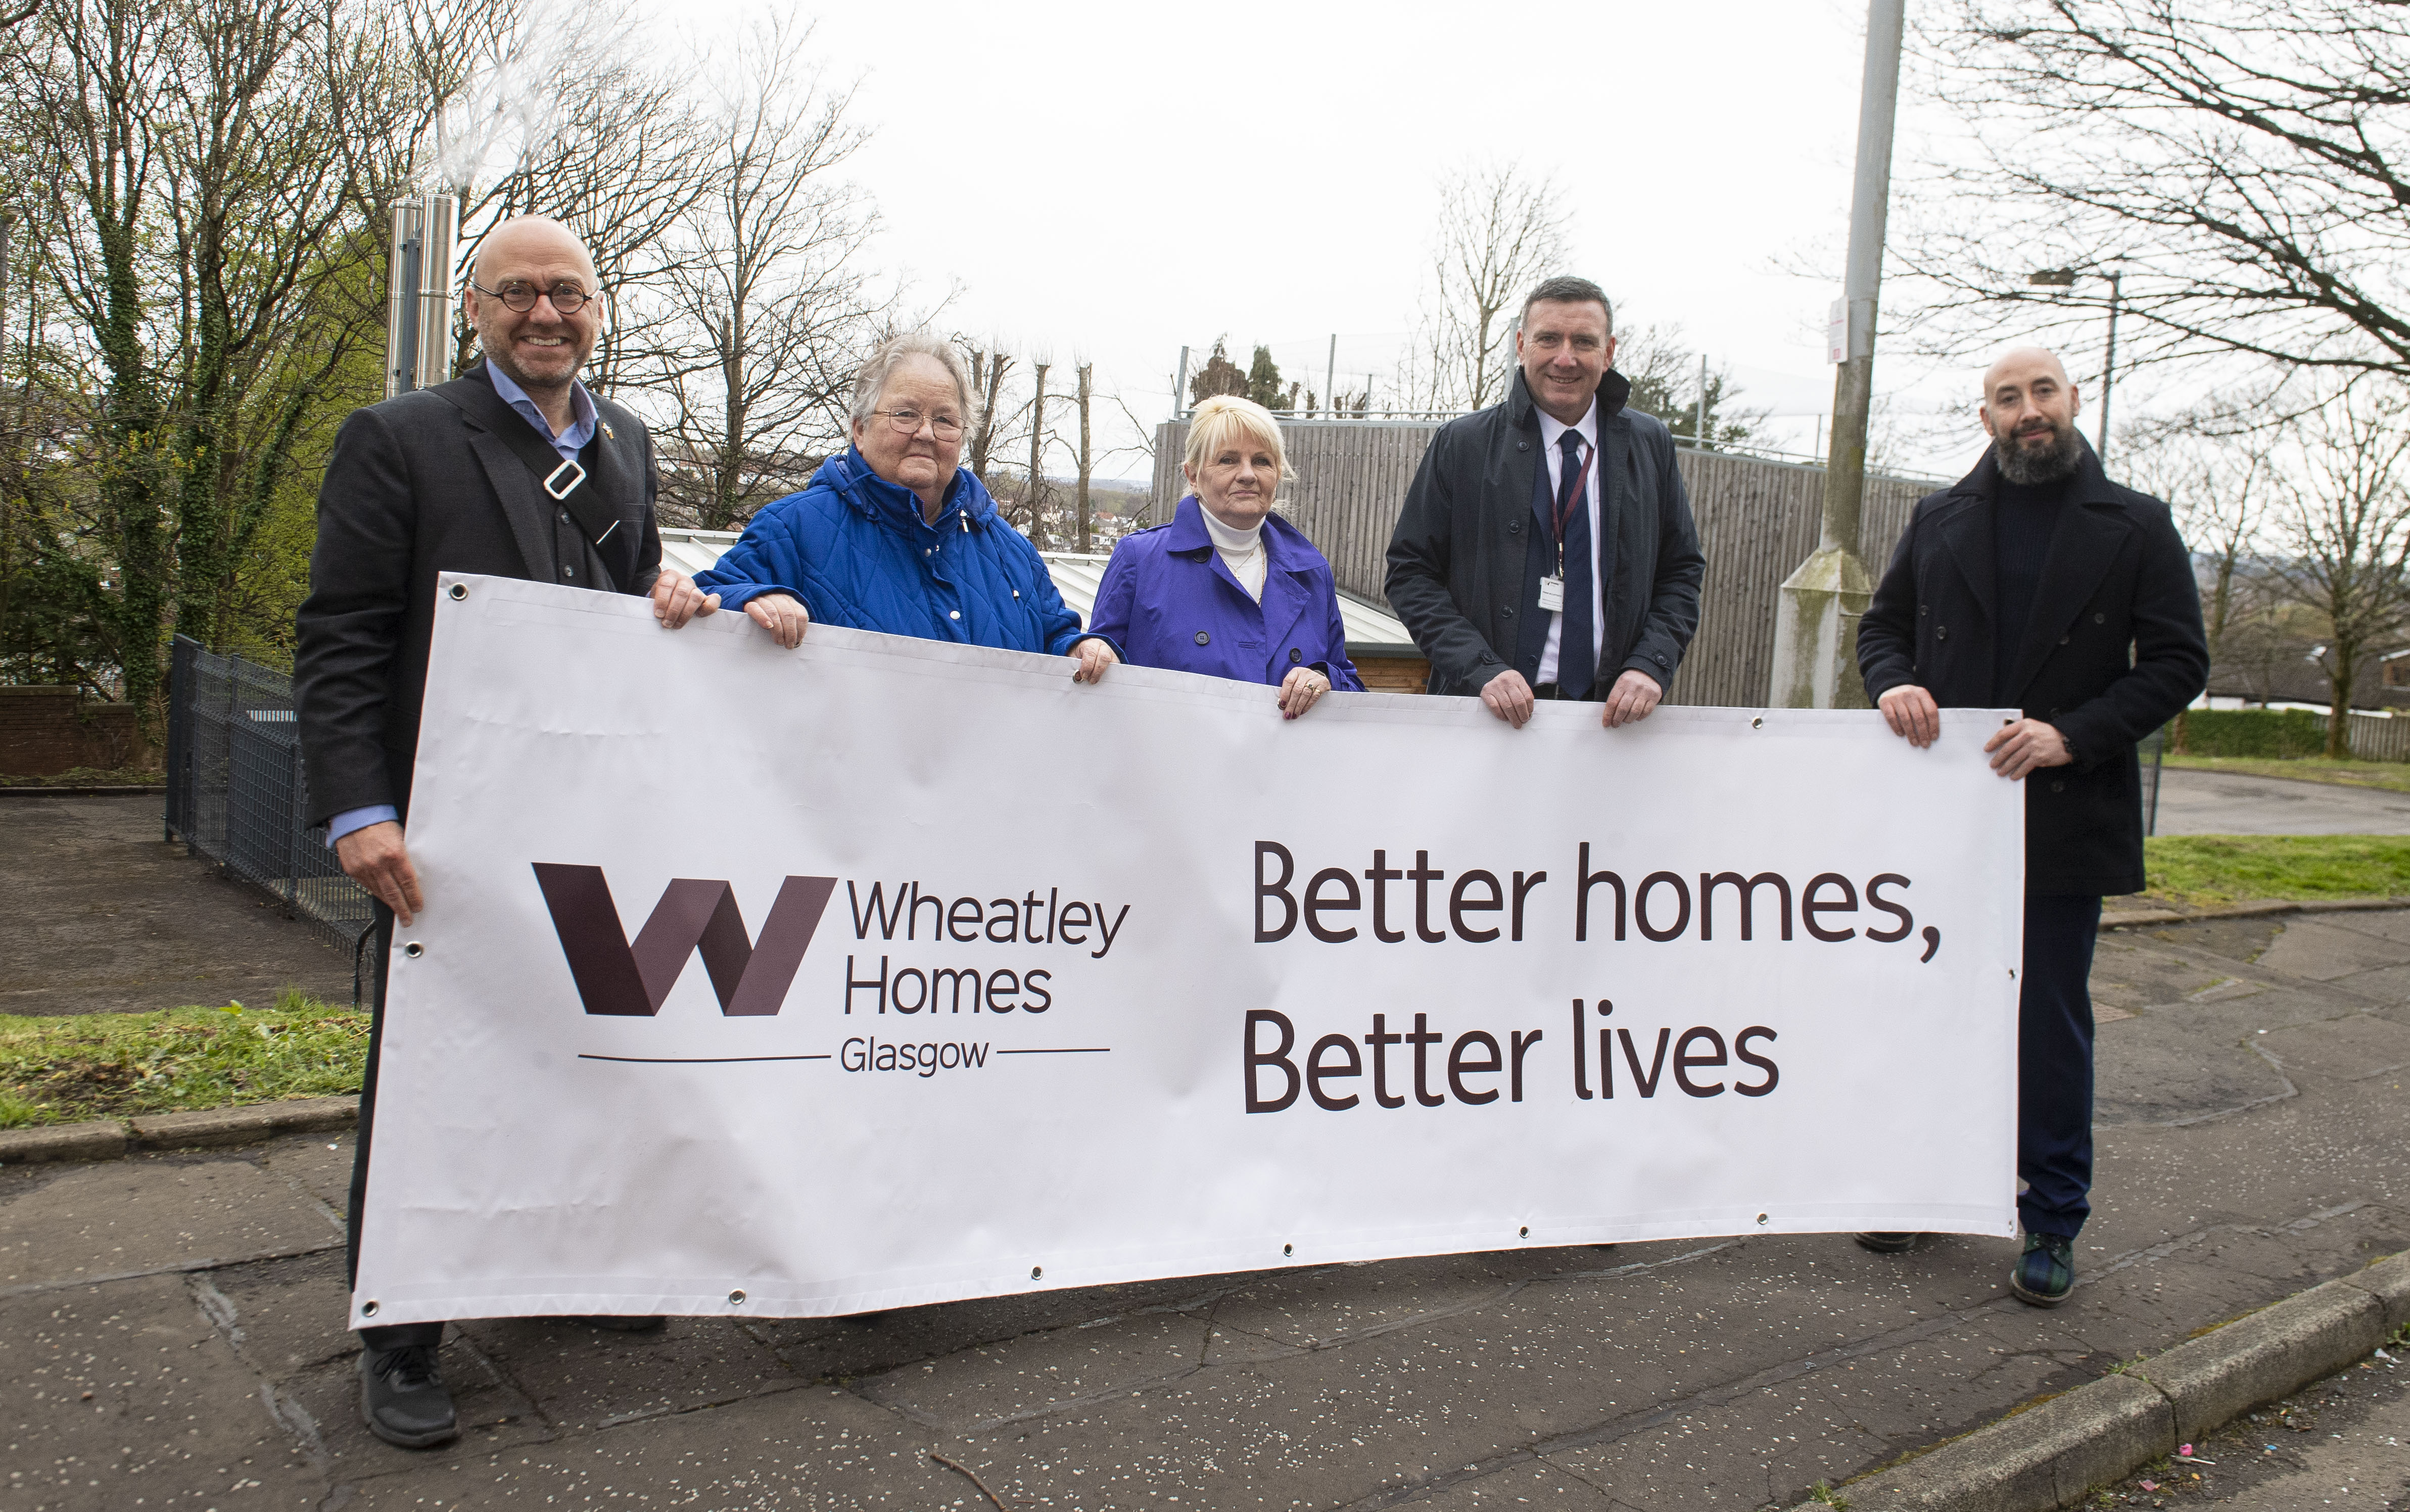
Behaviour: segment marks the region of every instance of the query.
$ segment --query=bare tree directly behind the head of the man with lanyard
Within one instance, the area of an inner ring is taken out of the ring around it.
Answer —
[[[1564,268],[1571,217],[1554,183],[1513,164],[1453,169],[1439,181],[1432,275],[1415,333],[1412,393],[1432,410],[1480,410],[1506,393],[1513,313]]]

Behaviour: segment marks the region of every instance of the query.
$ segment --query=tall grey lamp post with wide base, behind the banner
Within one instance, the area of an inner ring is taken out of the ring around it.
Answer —
[[[1858,617],[1875,579],[1858,557],[1865,506],[1865,420],[1875,398],[1875,297],[1882,289],[1882,224],[1892,198],[1892,118],[1906,0],[1865,7],[1865,82],[1858,92],[1858,181],[1848,207],[1848,350],[1832,383],[1832,453],[1824,463],[1824,528],[1815,555],[1783,581],[1774,617],[1776,709],[1865,709]]]

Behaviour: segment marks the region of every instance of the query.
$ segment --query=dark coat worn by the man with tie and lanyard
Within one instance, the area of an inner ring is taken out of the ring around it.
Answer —
[[[1632,381],[1610,369],[1598,383],[1600,699],[1627,668],[1673,687],[1706,574],[1673,434],[1627,410],[1627,398]],[[1388,538],[1386,588],[1432,658],[1429,692],[1480,695],[1506,668],[1526,680],[1540,670],[1540,579],[1552,555],[1533,509],[1540,465],[1540,412],[1521,369],[1504,403],[1439,427],[1422,453]]]

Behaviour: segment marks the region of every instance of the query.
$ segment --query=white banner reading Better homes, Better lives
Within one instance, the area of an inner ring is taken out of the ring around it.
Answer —
[[[2010,1235],[1995,726],[1285,721],[446,579],[352,1321]]]

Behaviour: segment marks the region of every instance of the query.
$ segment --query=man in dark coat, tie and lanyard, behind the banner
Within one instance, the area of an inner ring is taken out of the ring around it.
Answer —
[[[1388,543],[1388,603],[1432,692],[1513,728],[1540,699],[1646,719],[1699,629],[1706,559],[1673,434],[1624,408],[1615,313],[1586,277],[1523,301],[1506,400],[1432,436]]]

